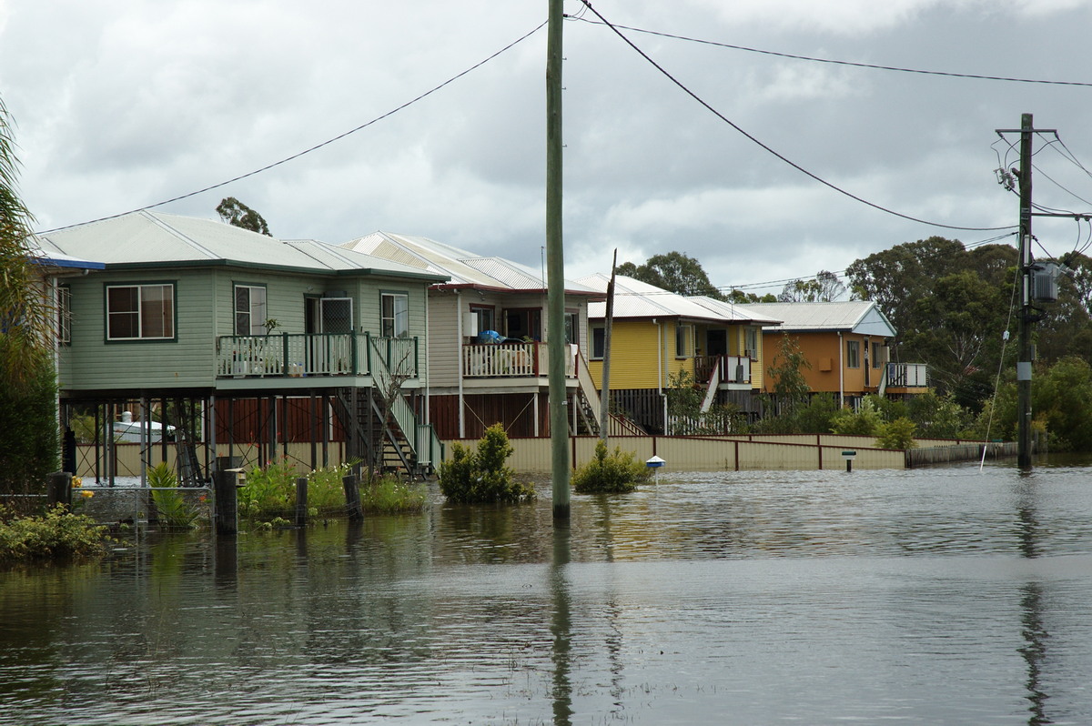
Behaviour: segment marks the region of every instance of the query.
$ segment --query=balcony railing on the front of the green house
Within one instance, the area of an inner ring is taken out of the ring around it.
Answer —
[[[368,333],[216,338],[217,378],[371,376],[380,361],[394,376],[416,378],[417,338],[377,338]]]

